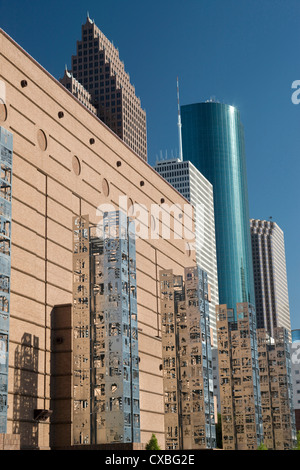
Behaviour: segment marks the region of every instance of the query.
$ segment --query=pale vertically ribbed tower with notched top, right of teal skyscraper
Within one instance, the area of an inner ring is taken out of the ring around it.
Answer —
[[[251,219],[250,226],[257,327],[273,336],[275,328],[282,326],[291,340],[283,231],[270,220]]]

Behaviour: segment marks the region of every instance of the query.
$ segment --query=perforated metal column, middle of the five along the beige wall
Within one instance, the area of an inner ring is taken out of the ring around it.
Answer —
[[[160,272],[167,450],[216,446],[207,274]]]

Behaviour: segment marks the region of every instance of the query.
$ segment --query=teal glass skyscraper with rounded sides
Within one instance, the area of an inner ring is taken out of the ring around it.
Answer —
[[[181,106],[184,159],[213,185],[219,303],[255,306],[244,129],[239,111],[208,101]]]

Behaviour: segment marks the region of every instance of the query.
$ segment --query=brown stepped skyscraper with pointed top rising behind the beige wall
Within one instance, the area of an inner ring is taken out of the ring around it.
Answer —
[[[147,160],[146,113],[141,100],[136,96],[118,49],[89,17],[82,25],[82,37],[77,41],[70,73],[90,94],[101,121]]]

